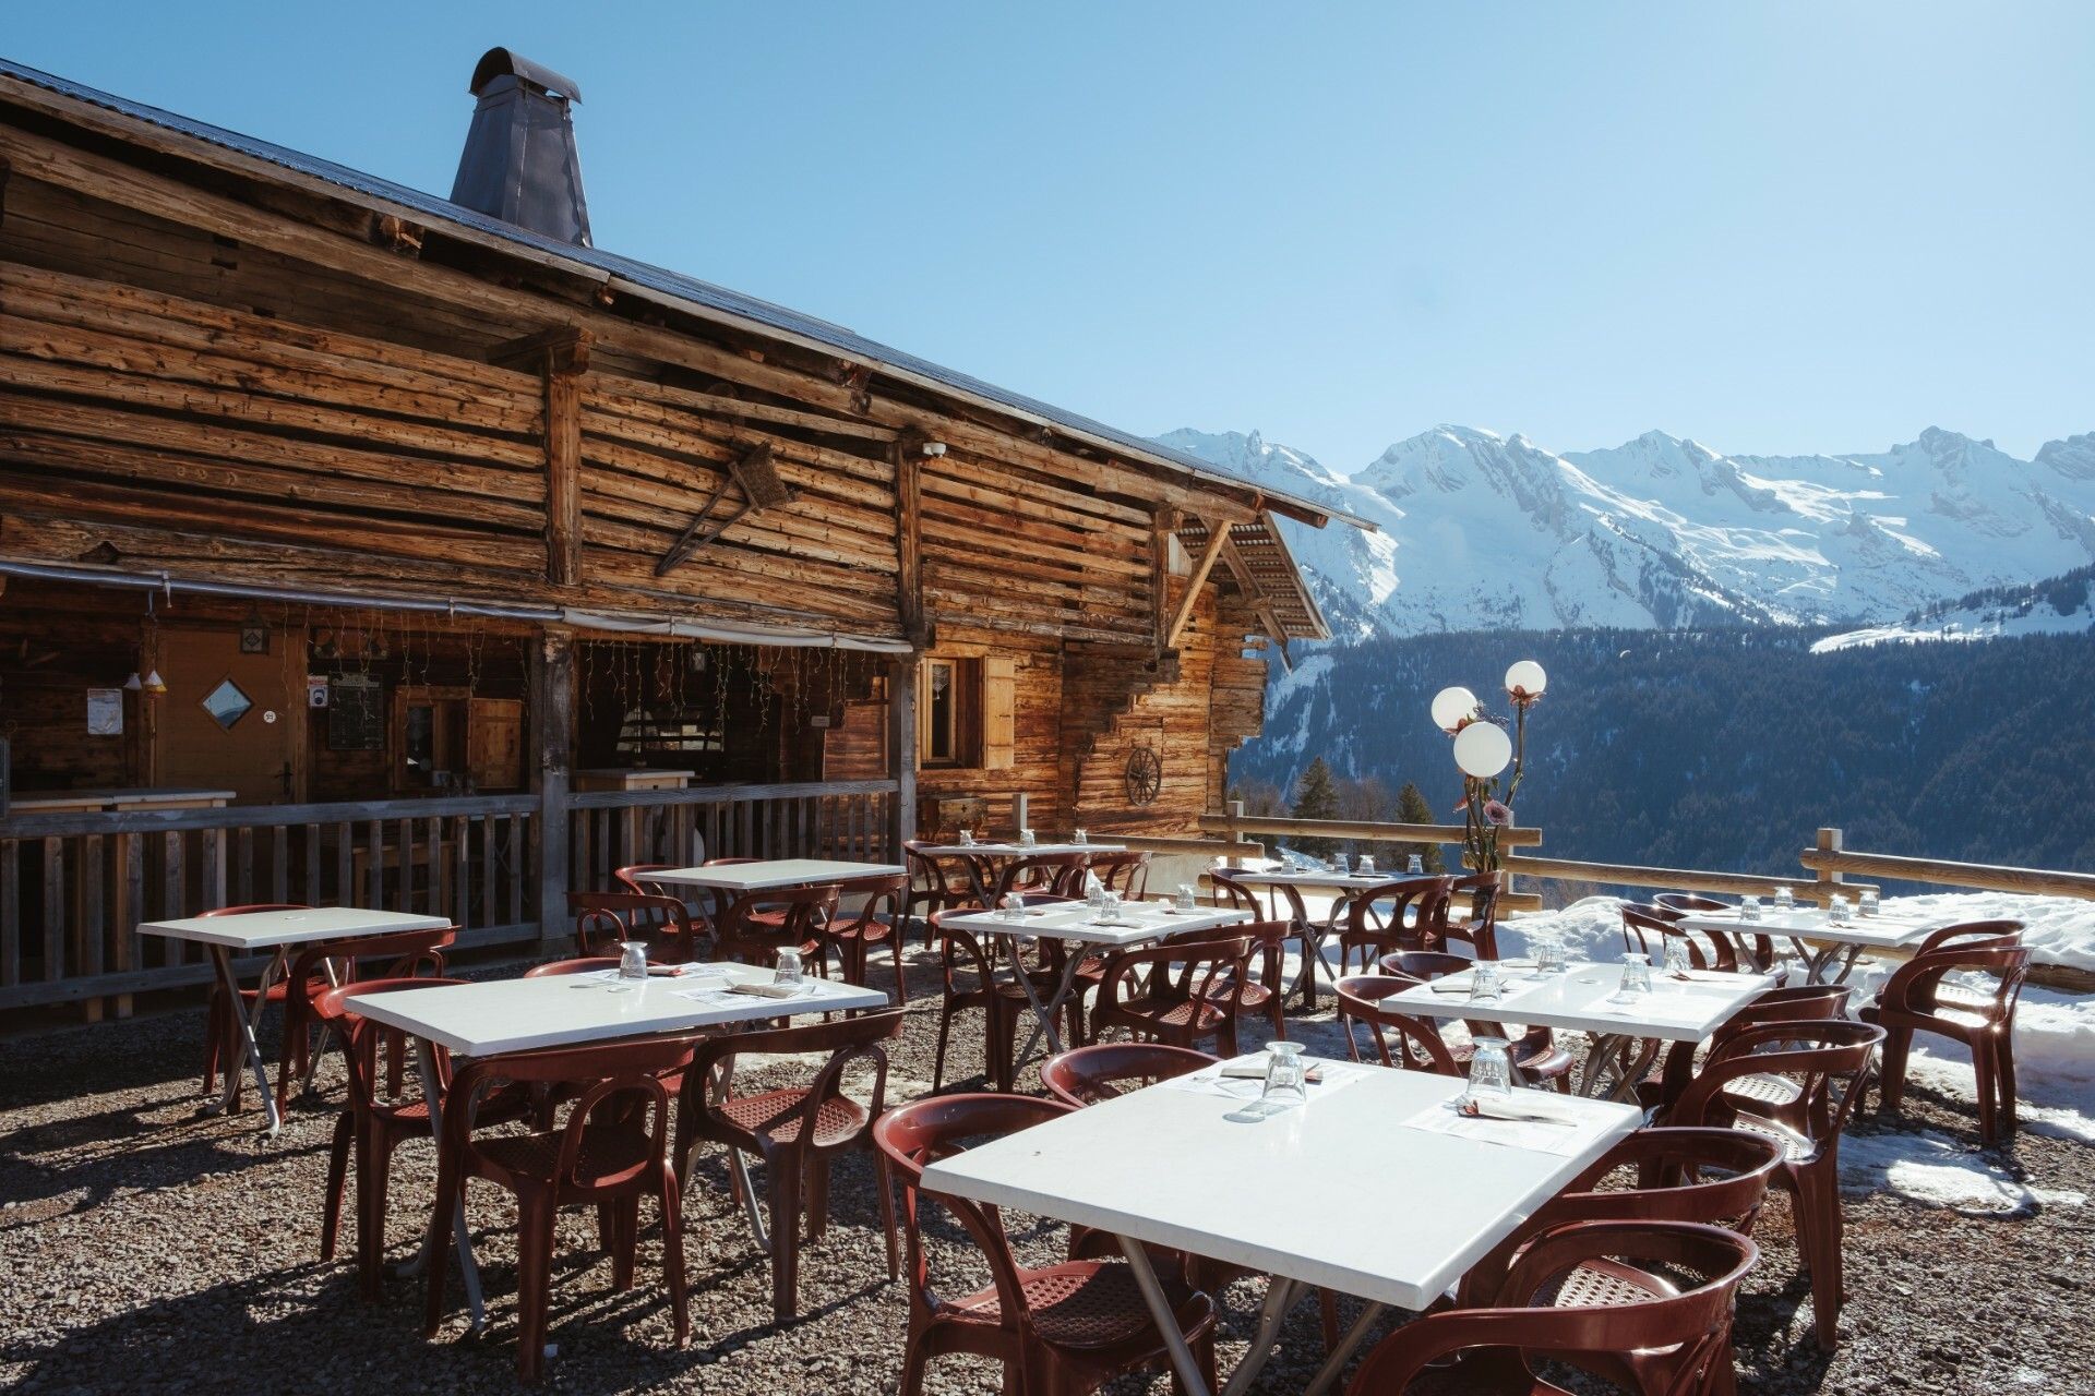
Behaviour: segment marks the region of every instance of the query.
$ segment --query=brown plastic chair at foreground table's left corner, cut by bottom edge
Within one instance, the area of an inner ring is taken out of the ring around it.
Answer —
[[[926,1367],[968,1352],[1004,1365],[1004,1390],[1079,1396],[1121,1373],[1169,1363],[1125,1260],[1064,1260],[1024,1266],[1012,1256],[997,1208],[922,1189],[924,1168],[960,1153],[962,1141],[995,1139],[1054,1120],[1068,1107],[1014,1095],[949,1095],[911,1101],[874,1124],[874,1143],[903,1183],[909,1239],[909,1331],[901,1396],[920,1396]],[[945,1296],[932,1287],[920,1203],[947,1208],[989,1262],[989,1287]],[[1173,1270],[1159,1281],[1179,1333],[1209,1388],[1215,1386],[1215,1304]]]

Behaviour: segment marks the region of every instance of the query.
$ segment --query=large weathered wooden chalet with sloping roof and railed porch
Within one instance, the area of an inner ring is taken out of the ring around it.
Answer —
[[[1324,636],[1309,500],[4,61],[0,362],[0,1009],[199,984],[132,927],[205,906],[1194,833]]]

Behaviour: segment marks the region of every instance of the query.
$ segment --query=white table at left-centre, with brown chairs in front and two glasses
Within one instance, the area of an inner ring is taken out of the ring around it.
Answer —
[[[733,864],[731,864],[733,866]],[[746,864],[752,866],[752,864]],[[453,1057],[490,1057],[524,1053],[536,1046],[580,1046],[616,1038],[641,1038],[660,1032],[693,1028],[725,1028],[731,1023],[798,1017],[804,1013],[840,1013],[848,1009],[884,1009],[888,996],[880,990],[853,988],[832,980],[807,980],[798,998],[763,998],[756,994],[721,992],[727,984],[769,984],[769,969],[750,965],[700,965],[687,975],[649,975],[629,984],[616,975],[578,973],[538,980],[488,980],[482,984],[446,984],[409,988],[385,994],[350,994],[348,1007],[373,1023],[398,1028],[415,1040],[415,1074],[421,1097],[429,1103],[429,1130],[442,1139],[444,1093],[436,1072],[436,1049]],[[698,994],[696,998],[689,994]],[[756,1191],[750,1187],[740,1151],[729,1149],[729,1164],[742,1180],[744,1208],[758,1243],[763,1224],[756,1218]],[[465,1275],[465,1302],[473,1327],[486,1323],[480,1298],[480,1266],[473,1262],[471,1233],[465,1229],[461,1199],[453,1216],[455,1249]],[[429,1247],[409,1268],[432,1264]]]

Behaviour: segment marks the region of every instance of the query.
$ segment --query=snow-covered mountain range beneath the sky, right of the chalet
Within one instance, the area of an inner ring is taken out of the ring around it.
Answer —
[[[1341,638],[1881,624],[2095,561],[2095,433],[2017,460],[1938,427],[1839,456],[1726,456],[1663,431],[1557,454],[1435,427],[1358,475],[1255,431],[1161,440],[1381,527],[1288,530]]]

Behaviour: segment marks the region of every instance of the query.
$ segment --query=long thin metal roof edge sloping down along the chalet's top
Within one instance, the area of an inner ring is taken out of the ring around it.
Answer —
[[[918,358],[913,354],[903,354],[884,343],[867,339],[855,331],[828,320],[817,320],[815,316],[800,314],[796,310],[786,310],[784,306],[773,306],[771,301],[756,299],[754,295],[742,295],[740,291],[729,291],[716,287],[708,280],[698,280],[696,276],[683,276],[679,272],[664,270],[660,266],[649,266],[645,262],[635,262],[633,257],[620,257],[618,253],[603,251],[601,247],[576,247],[572,243],[561,243],[549,237],[530,232],[515,224],[507,224],[499,218],[486,213],[476,213],[463,205],[450,203],[448,199],[438,199],[436,195],[425,195],[419,188],[409,188],[404,184],[394,184],[375,174],[365,174],[362,170],[350,170],[348,165],[337,165],[335,161],[321,159],[316,155],[306,155],[302,151],[291,151],[268,140],[256,140],[253,136],[243,136],[239,132],[228,132],[207,121],[197,121],[172,111],[161,111],[159,107],[147,107],[145,103],[134,103],[86,84],[71,82],[67,77],[57,77],[34,67],[25,67],[10,59],[0,59],[0,75],[15,77],[23,84],[44,88],[59,96],[67,96],[80,103],[90,103],[103,107],[117,115],[147,121],[161,130],[178,132],[195,140],[245,155],[249,159],[268,161],[304,176],[312,176],[335,184],[354,195],[367,199],[383,199],[400,209],[415,216],[417,222],[429,224],[453,224],[457,228],[469,228],[484,239],[497,239],[517,247],[530,247],[541,257],[551,257],[570,264],[574,270],[599,272],[605,276],[616,276],[635,287],[647,289],[656,295],[681,301],[683,306],[710,314],[712,318],[727,316],[750,327],[767,329],[790,339],[811,341],[844,358],[867,362],[876,368],[890,370],[899,377],[911,377],[932,387],[943,387],[966,398],[974,398],[983,404],[1016,412],[1020,416],[1031,416],[1035,421],[1050,423],[1071,435],[1089,437],[1094,442],[1106,444],[1119,452],[1135,456],[1152,465],[1165,465],[1184,475],[1207,481],[1215,486],[1228,486],[1232,490],[1253,490],[1267,500],[1291,504],[1288,513],[1303,513],[1314,519],[1341,519],[1355,527],[1374,532],[1374,523],[1366,519],[1355,519],[1345,513],[1335,513],[1328,504],[1320,504],[1309,498],[1295,494],[1284,494],[1278,490],[1267,490],[1265,486],[1251,483],[1228,471],[1217,471],[1198,456],[1161,446],[1148,437],[1140,437],[1117,427],[1108,427],[1100,421],[1091,421],[1079,412],[1068,412],[1064,408],[1052,406],[1037,398],[1024,393],[1014,393],[1010,389],[985,383],[966,373],[945,368],[930,360]]]

